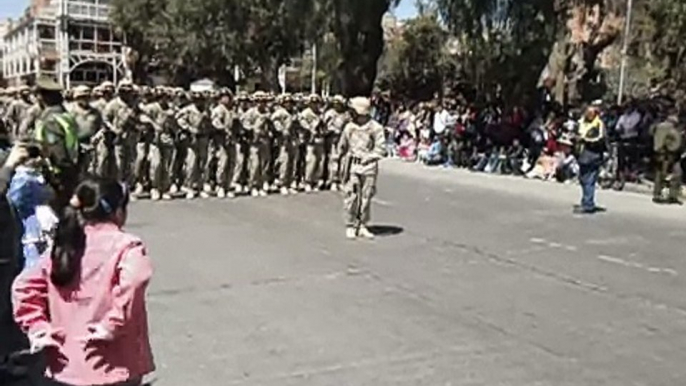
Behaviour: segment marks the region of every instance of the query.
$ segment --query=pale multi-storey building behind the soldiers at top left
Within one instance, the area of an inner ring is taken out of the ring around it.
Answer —
[[[4,35],[5,82],[32,84],[48,75],[69,88],[120,79],[124,48],[109,22],[109,1],[34,0]]]

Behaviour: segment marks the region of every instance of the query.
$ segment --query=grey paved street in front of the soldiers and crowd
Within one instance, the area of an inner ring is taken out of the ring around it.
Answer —
[[[157,383],[686,384],[686,209],[383,164],[375,241],[334,193],[135,203]]]

